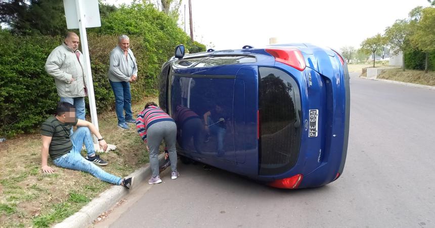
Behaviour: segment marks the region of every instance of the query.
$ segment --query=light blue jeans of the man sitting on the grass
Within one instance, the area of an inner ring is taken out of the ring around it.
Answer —
[[[116,177],[109,173],[106,173],[103,169],[98,167],[96,164],[84,159],[81,154],[81,146],[83,143],[92,143],[92,148],[94,148],[94,143],[92,142],[91,131],[89,128],[80,127],[78,128],[71,137],[72,150],[61,157],[53,160],[53,163],[57,166],[69,168],[73,170],[80,170],[86,173],[90,173],[98,179],[109,182],[115,185],[120,185],[122,178]],[[95,152],[93,152],[95,153]],[[88,150],[89,154],[89,150]]]

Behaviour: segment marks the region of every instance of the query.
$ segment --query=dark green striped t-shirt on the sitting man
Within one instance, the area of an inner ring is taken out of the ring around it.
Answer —
[[[52,137],[50,142],[49,154],[54,160],[72,149],[71,127],[77,124],[77,118],[74,123],[62,124],[56,117],[50,117],[41,125],[41,135]]]

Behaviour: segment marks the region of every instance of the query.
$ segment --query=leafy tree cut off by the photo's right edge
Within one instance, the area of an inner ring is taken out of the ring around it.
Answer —
[[[423,9],[420,20],[413,28],[410,39],[414,46],[425,53],[424,72],[427,73],[429,52],[435,51],[435,8]]]

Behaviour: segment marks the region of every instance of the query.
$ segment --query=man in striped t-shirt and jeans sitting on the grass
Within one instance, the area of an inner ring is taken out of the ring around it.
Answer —
[[[75,117],[74,105],[67,102],[59,102],[56,108],[57,115],[50,117],[41,125],[41,169],[44,173],[52,174],[54,169],[47,165],[48,155],[57,166],[80,170],[90,173],[102,181],[115,185],[122,185],[130,189],[133,185],[133,178],[122,179],[106,173],[103,169],[93,162],[86,160],[80,154],[83,142],[89,144],[86,147],[90,154],[94,154],[96,159],[101,160],[99,155],[95,155],[94,143],[92,142],[91,132],[98,138],[98,144],[104,151],[107,143],[101,136],[97,128],[90,122],[78,120]],[[70,135],[72,125],[76,125],[77,130]]]

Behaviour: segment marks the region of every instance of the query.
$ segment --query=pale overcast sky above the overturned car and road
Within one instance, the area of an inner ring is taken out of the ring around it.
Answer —
[[[106,0],[119,5],[132,0]],[[186,32],[189,31],[189,5],[186,4]],[[397,19],[408,17],[417,6],[428,7],[427,0],[192,0],[195,40],[216,50],[254,47],[278,42],[308,42],[339,49],[356,48],[370,36],[383,33]],[[184,26],[180,25],[184,28]]]

